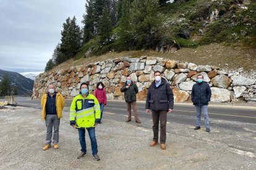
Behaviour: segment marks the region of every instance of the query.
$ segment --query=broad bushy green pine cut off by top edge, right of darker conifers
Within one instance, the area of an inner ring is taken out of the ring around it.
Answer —
[[[134,0],[131,9],[131,28],[137,49],[156,46],[155,34],[160,24],[158,0]]]

